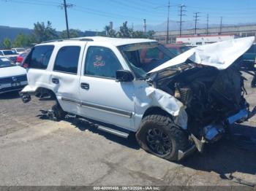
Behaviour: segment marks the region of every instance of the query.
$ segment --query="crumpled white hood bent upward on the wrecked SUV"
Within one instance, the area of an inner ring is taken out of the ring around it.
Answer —
[[[255,37],[250,36],[195,47],[149,71],[148,74],[161,71],[170,66],[176,66],[187,60],[206,66],[214,66],[219,70],[227,69],[249,50],[254,41]]]

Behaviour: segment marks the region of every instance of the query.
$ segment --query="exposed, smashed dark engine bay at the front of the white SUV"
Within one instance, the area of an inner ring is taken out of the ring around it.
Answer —
[[[244,79],[232,67],[223,71],[195,67],[164,77],[157,85],[187,106],[189,131],[197,138],[217,139],[223,121],[246,107]]]

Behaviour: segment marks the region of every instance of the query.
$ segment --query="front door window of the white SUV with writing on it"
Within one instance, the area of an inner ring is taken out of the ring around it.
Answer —
[[[85,73],[95,77],[116,78],[121,63],[112,50],[106,47],[89,47],[86,53]]]

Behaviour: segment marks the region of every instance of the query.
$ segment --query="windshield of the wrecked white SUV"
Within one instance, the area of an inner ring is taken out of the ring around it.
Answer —
[[[138,78],[146,77],[148,71],[175,57],[157,42],[128,44],[118,48]]]

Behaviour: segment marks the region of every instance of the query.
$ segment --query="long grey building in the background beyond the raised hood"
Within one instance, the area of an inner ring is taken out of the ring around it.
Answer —
[[[159,42],[166,43],[166,31],[159,31],[154,34],[154,39]],[[256,25],[246,25],[246,26],[223,26],[222,28],[197,28],[197,34],[195,34],[195,29],[183,30],[181,36],[179,36],[179,30],[169,31],[169,42],[170,44],[176,43],[177,37],[205,37],[205,36],[255,36],[256,37]]]

